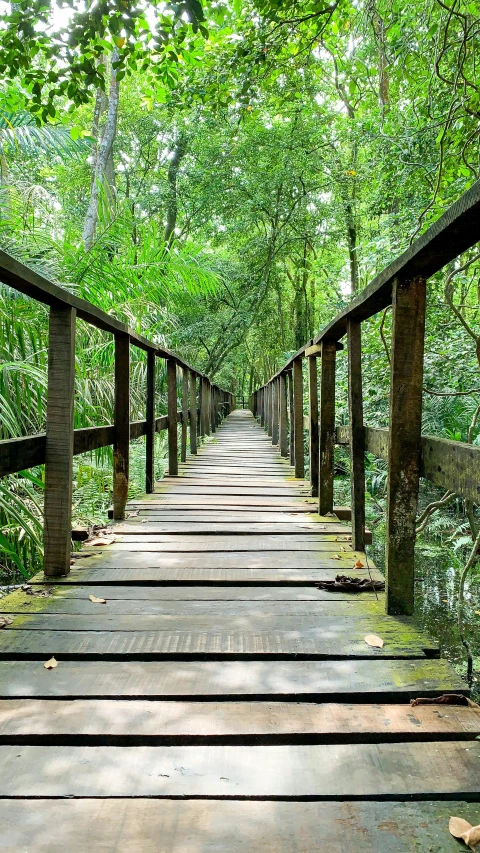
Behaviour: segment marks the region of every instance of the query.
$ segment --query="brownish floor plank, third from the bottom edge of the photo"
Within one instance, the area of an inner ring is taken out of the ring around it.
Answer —
[[[150,700],[0,700],[0,742],[115,745],[389,743],[468,740],[480,711],[409,705],[292,702],[152,702]]]

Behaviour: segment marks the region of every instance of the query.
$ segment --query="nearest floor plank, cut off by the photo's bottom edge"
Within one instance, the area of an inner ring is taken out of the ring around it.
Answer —
[[[202,853],[345,853],[346,827],[356,853],[455,853],[458,844],[446,829],[449,816],[458,814],[475,825],[477,808],[458,800],[206,804],[167,799],[159,808],[148,798],[20,799],[0,802],[0,825],[5,853],[79,850],[85,827],[90,849],[102,853],[185,851],[190,839],[201,839]]]

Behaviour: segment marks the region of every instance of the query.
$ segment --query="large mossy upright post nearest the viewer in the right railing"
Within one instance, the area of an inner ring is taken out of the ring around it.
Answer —
[[[421,454],[424,278],[395,279],[386,524],[387,613],[413,613],[415,518]]]

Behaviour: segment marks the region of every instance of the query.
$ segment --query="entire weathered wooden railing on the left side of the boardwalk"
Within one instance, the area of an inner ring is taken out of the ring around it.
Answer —
[[[178,423],[182,425],[180,459],[185,461],[187,427],[190,450],[196,453],[197,436],[214,432],[221,418],[235,407],[235,398],[176,353],[138,335],[5,252],[0,252],[0,281],[50,306],[46,432],[0,441],[0,477],[45,463],[44,570],[49,577],[67,575],[71,556],[73,456],[113,444],[113,517],[123,519],[128,496],[130,440],[146,436],[146,490],[152,492],[155,432],[168,430],[168,470],[171,476],[176,476]],[[107,426],[73,428],[77,317],[114,335],[114,423]],[[130,422],[130,346],[147,353],[146,418],[133,423]],[[158,418],[155,416],[156,358],[167,363],[167,415]],[[182,372],[180,411],[178,369]]]

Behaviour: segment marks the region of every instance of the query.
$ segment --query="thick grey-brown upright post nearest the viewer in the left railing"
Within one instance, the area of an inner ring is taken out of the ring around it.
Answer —
[[[50,308],[44,503],[47,577],[68,575],[70,571],[75,320],[75,308]]]

